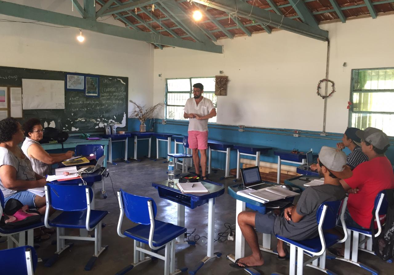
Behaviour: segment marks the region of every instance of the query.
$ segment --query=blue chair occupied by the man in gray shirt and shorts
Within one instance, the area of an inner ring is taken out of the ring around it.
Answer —
[[[324,273],[335,275],[334,272],[325,268],[326,248],[338,242],[345,242],[348,235],[344,230],[345,237],[339,240],[335,234],[324,232],[328,229],[335,228],[339,221],[342,225],[345,224],[344,214],[348,197],[342,201],[326,201],[322,203],[316,211],[316,221],[318,223],[319,236],[303,240],[294,241],[289,238],[276,235],[279,240],[290,244],[290,275],[296,274],[296,249],[297,249],[297,275],[303,274],[303,267],[310,266],[318,269]],[[311,256],[310,259],[304,262],[304,253]],[[272,275],[279,273],[272,273]]]

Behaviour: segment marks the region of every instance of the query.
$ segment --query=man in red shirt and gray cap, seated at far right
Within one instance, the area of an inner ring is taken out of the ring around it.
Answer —
[[[392,165],[385,156],[390,141],[385,133],[372,127],[358,130],[356,135],[361,138],[362,152],[369,161],[357,165],[352,177],[340,181],[350,193],[345,221],[349,227],[369,229],[377,194],[394,188]]]

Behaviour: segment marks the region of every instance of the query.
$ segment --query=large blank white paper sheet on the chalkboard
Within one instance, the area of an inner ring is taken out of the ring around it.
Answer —
[[[22,79],[23,109],[64,109],[64,80]]]

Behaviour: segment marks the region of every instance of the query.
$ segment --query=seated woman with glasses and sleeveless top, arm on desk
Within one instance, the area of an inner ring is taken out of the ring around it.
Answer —
[[[67,160],[74,155],[73,151],[67,151],[62,154],[48,154],[40,145],[39,141],[43,139],[43,126],[39,119],[32,118],[23,124],[26,139],[22,145],[22,151],[32,162],[35,173],[45,177],[50,174],[51,165]]]

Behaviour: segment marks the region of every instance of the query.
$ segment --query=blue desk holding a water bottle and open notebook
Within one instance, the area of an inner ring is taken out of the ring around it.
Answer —
[[[223,195],[224,186],[208,180],[200,180],[209,193],[205,194],[183,194],[177,187],[178,179],[174,184],[169,184],[167,180],[153,182],[152,186],[157,189],[159,197],[173,201],[178,204],[178,225],[185,226],[185,206],[194,209],[197,206],[208,203],[208,243],[206,257],[199,261],[196,266],[189,269],[189,274],[195,274],[208,260],[219,258],[221,253],[214,253],[214,234],[215,234],[215,198]],[[177,238],[177,244],[188,244],[184,236]]]

